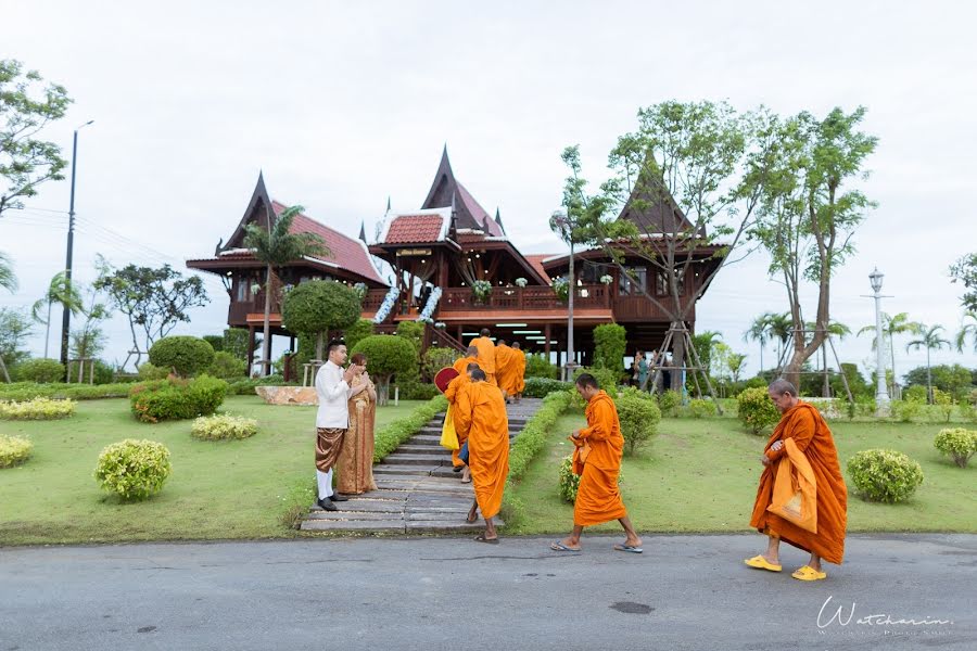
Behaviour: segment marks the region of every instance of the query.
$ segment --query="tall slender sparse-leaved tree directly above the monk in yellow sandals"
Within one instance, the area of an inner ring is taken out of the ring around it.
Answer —
[[[864,178],[866,158],[877,138],[859,130],[865,108],[840,108],[823,119],[802,112],[772,118],[762,130],[775,143],[761,184],[758,225],[751,232],[771,257],[770,276],[784,283],[795,332],[807,322],[803,288],[816,286],[817,302],[810,339],[795,336],[784,371],[798,384],[804,362],[824,343],[830,322],[830,285],[837,269],[854,252],[851,238],[874,206],[854,182]]]

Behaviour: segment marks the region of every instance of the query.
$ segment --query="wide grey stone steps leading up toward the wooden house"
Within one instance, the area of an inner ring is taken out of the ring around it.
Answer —
[[[519,435],[542,404],[541,399],[523,398],[506,407],[510,438]],[[383,463],[373,465],[378,490],[338,502],[339,511],[313,506],[302,531],[449,533],[484,528],[481,521],[465,522],[474,494],[471,484],[462,484],[460,473],[452,471],[452,454],[440,445],[443,423],[444,413],[435,416]]]

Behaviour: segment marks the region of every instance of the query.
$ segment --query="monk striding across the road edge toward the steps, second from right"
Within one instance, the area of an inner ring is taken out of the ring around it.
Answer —
[[[580,475],[580,488],[573,503],[573,531],[549,547],[554,551],[580,551],[583,527],[617,520],[624,527],[626,538],[623,544],[614,545],[614,549],[642,553],[642,539],[627,518],[618,487],[624,456],[618,408],[589,373],[582,373],[576,379],[576,392],[587,403],[587,426],[570,437],[575,446],[573,471]]]

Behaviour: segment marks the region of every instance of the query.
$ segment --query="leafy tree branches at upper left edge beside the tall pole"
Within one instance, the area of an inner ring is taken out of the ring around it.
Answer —
[[[64,117],[72,103],[58,84],[45,84],[37,71],[18,61],[0,60],[0,217],[24,207],[45,181],[64,178],[67,161],[61,148],[38,138],[50,123]]]

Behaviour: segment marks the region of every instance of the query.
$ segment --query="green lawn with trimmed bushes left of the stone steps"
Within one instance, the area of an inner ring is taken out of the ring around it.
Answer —
[[[380,408],[377,427],[420,404]],[[66,420],[0,421],[0,434],[34,442],[26,463],[0,470],[0,545],[294,535],[279,516],[288,492],[315,476],[315,409],[228,397],[224,411],[258,420],[257,435],[232,442],[196,441],[191,421],[139,423],[125,399],[78,403]],[[169,448],[173,474],[148,501],[119,503],[92,477],[102,448],[123,438]]]

